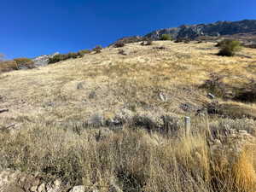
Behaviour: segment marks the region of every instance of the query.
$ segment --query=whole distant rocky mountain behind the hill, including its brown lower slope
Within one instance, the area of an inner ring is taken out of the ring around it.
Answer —
[[[172,38],[190,40],[217,40],[218,38],[236,38],[245,44],[256,44],[256,20],[218,21],[211,24],[183,25],[150,32],[145,36],[121,38],[118,42],[134,43],[150,38],[159,40],[161,35],[170,34]]]

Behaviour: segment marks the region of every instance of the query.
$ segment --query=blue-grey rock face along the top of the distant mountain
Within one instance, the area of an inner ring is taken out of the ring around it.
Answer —
[[[224,36],[237,33],[256,32],[256,20],[218,21],[212,24],[179,26],[150,32],[146,38],[160,39],[162,34],[171,34],[173,38],[195,39],[201,36]]]

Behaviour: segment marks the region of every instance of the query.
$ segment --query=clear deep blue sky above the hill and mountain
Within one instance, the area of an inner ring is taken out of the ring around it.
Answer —
[[[0,53],[8,58],[106,46],[155,29],[256,19],[255,0],[2,0]]]

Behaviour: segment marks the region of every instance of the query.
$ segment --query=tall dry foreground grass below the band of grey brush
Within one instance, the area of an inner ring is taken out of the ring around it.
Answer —
[[[195,129],[197,129],[195,127]],[[104,131],[105,130],[105,131]],[[70,129],[39,124],[0,133],[0,166],[60,177],[88,191],[255,191],[255,148],[213,151],[204,135],[166,138],[143,130]],[[236,144],[235,141],[232,143]]]

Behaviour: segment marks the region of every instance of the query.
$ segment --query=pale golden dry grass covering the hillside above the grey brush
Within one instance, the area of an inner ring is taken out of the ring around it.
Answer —
[[[166,49],[153,49],[156,46]],[[234,86],[256,78],[255,49],[244,48],[234,57],[215,55],[218,49],[212,43],[161,41],[152,46],[127,44],[123,49],[128,55],[106,48],[100,54],[48,67],[2,73],[0,108],[10,111],[1,114],[1,121],[11,119],[18,123],[19,118],[37,119],[40,115],[60,121],[86,119],[93,113],[120,113],[128,104],[137,112],[148,113],[141,102],[157,108],[159,113],[163,110],[184,114],[179,108],[181,103],[189,102],[200,108],[208,102],[195,87],[210,72],[226,74],[225,83]],[[78,84],[83,88],[78,90]],[[160,93],[166,95],[166,102],[160,100]],[[255,110],[255,105],[248,107]]]

